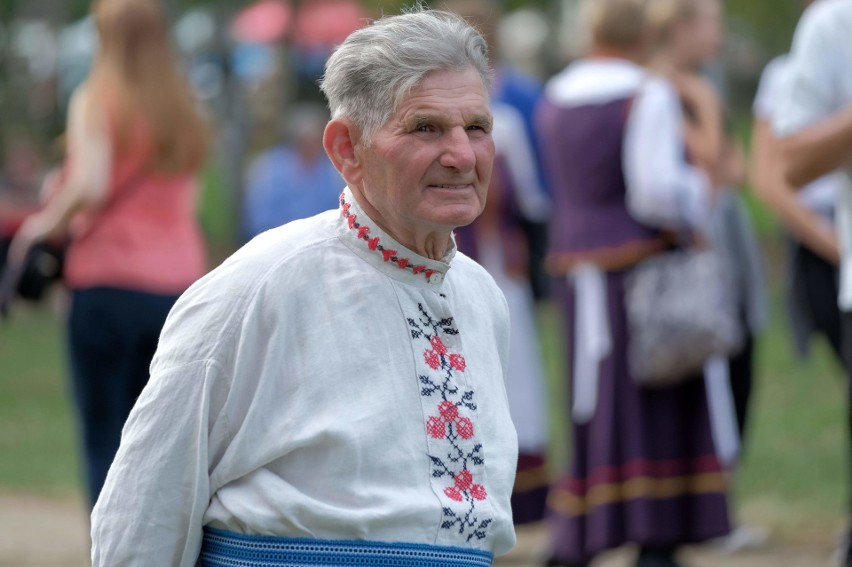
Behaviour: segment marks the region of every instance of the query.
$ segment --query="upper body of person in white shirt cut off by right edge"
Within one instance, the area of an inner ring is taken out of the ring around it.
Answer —
[[[793,37],[778,93],[773,128],[784,174],[793,187],[840,171],[835,223],[840,244],[841,350],[847,376],[852,361],[852,0],[809,6]],[[852,433],[852,398],[849,426]],[[852,439],[852,437],[850,437]],[[852,566],[852,546],[844,565]]]

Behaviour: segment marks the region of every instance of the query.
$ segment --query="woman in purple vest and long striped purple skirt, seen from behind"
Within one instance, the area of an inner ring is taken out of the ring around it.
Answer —
[[[729,532],[726,474],[703,380],[634,382],[625,279],[669,246],[665,231],[707,228],[713,189],[685,160],[677,93],[640,65],[651,44],[645,2],[583,9],[587,56],[549,82],[536,114],[573,422],[570,470],[548,500],[548,564],[586,566],[632,543],[637,567],[677,567],[678,546]]]

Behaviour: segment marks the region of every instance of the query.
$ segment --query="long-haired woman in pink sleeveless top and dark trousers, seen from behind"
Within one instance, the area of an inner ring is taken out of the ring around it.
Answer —
[[[92,14],[100,51],[71,100],[59,184],[10,257],[70,237],[70,366],[94,502],[166,314],[205,272],[195,201],[206,131],[159,3],[98,0]]]

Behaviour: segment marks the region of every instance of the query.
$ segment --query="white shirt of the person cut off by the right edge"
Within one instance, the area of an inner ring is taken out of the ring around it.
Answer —
[[[773,127],[784,137],[852,104],[852,0],[820,0],[805,10],[778,93]],[[852,310],[852,160],[838,178],[841,310]]]

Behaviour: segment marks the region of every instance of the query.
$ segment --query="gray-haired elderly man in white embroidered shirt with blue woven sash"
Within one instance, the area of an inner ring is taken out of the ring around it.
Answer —
[[[452,236],[491,173],[485,50],[433,11],[337,49],[340,208],[179,300],[92,515],[94,565],[474,566],[513,545],[507,307]]]

